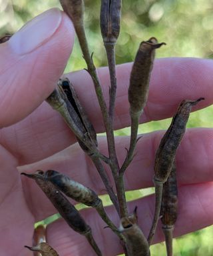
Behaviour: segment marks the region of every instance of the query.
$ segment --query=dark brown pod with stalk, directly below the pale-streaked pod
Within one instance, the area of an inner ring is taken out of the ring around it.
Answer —
[[[31,179],[34,179],[37,185],[39,185],[45,195],[49,198],[51,203],[53,203],[55,209],[57,209],[63,219],[65,219],[67,224],[77,233],[85,235],[87,241],[89,241],[90,245],[93,247],[97,255],[102,255],[99,247],[93,239],[91,227],[87,225],[87,223],[85,222],[83,217],[81,217],[79,211],[77,211],[75,206],[67,200],[67,198],[53,185],[53,183],[45,179],[44,172],[39,170],[33,174],[21,174]]]

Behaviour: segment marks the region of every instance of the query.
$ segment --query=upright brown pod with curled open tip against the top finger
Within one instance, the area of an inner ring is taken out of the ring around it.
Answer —
[[[130,73],[130,85],[128,87],[128,102],[130,103],[131,116],[140,115],[146,104],[155,49],[161,45],[165,45],[165,43],[158,43],[154,37],[140,43]]]

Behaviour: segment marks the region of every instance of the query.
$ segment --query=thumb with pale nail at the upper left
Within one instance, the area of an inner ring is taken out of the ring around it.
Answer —
[[[50,9],[0,45],[0,128],[23,119],[49,96],[73,42],[67,15]]]

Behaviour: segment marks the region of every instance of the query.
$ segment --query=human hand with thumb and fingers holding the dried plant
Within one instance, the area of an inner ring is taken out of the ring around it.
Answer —
[[[25,177],[21,180],[20,171],[31,173],[36,169],[44,171],[55,169],[67,173],[74,180],[91,187],[99,194],[105,193],[105,187],[95,167],[75,144],[75,136],[69,131],[60,115],[47,103],[43,103],[53,91],[69,57],[73,45],[71,22],[65,14],[61,16],[56,9],[46,13],[43,19],[39,16],[39,19],[40,23],[37,23],[33,29],[28,30],[28,24],[23,31],[17,33],[18,36],[15,35],[7,43],[0,45],[0,61],[3,67],[0,74],[0,97],[2,97],[0,124],[1,128],[6,127],[1,129],[0,133],[1,255],[31,255],[31,252],[23,246],[32,243],[33,223],[56,212],[33,181]],[[45,31],[47,24],[53,27]],[[29,31],[28,37],[24,34],[25,31]],[[33,50],[31,43],[37,40],[36,35],[43,35],[45,40]],[[34,38],[29,39],[30,36]],[[19,51],[23,50],[23,41],[26,39],[28,39],[25,42],[28,51],[20,54]],[[130,124],[126,95],[130,67],[131,64],[117,67],[115,129]],[[205,97],[205,101],[197,106],[200,108],[212,104],[210,99],[213,90],[212,69],[213,64],[210,60],[174,58],[156,60],[148,102],[141,122],[172,116],[182,99]],[[108,99],[107,68],[101,68],[98,72]],[[79,71],[67,76],[75,84],[97,132],[104,131],[89,74],[86,71]],[[154,154],[163,133],[163,131],[148,133],[138,141],[137,155],[126,170],[126,189],[152,186]],[[210,157],[212,140],[212,129],[188,129],[178,149],[176,163],[180,187],[175,236],[213,223],[211,183],[213,161]],[[104,137],[99,139],[99,145],[102,152],[107,152]],[[120,163],[124,159],[126,153],[124,148],[127,145],[128,138],[116,138]],[[138,224],[147,236],[154,213],[154,197],[151,195],[131,202],[130,212],[135,205],[138,206]],[[108,207],[107,211],[118,225],[118,217],[114,209]],[[93,209],[85,209],[82,214],[91,225],[103,255],[120,253],[122,249],[120,243],[109,229],[103,229],[105,223]],[[63,219],[47,227],[47,239],[60,256],[85,253],[93,255],[85,238],[74,233]],[[154,242],[162,239],[162,233],[158,229]]]

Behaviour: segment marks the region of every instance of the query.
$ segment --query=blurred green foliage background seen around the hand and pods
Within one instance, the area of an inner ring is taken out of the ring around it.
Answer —
[[[85,0],[85,25],[89,35],[89,46],[94,51],[97,67],[107,65],[99,29],[100,0]],[[35,15],[51,8],[60,7],[57,0],[0,0],[0,34],[15,32]],[[212,0],[124,0],[122,3],[122,26],[116,46],[116,62],[132,61],[143,39],[155,36],[165,41],[166,47],[157,51],[160,57],[201,57],[213,55],[213,1]],[[81,50],[76,42],[66,71],[85,68]],[[212,107],[191,114],[188,127],[212,127]],[[153,121],[140,127],[143,133],[166,129],[170,119]],[[129,129],[117,131],[116,135],[127,135]],[[152,193],[152,189],[128,193],[133,200]],[[105,203],[109,201],[105,198]],[[79,209],[83,207],[79,205]],[[213,207],[213,206],[212,206]],[[49,223],[57,215],[45,220]],[[174,241],[174,256],[213,255],[213,228],[184,235]],[[163,243],[153,245],[152,255],[166,255]]]

